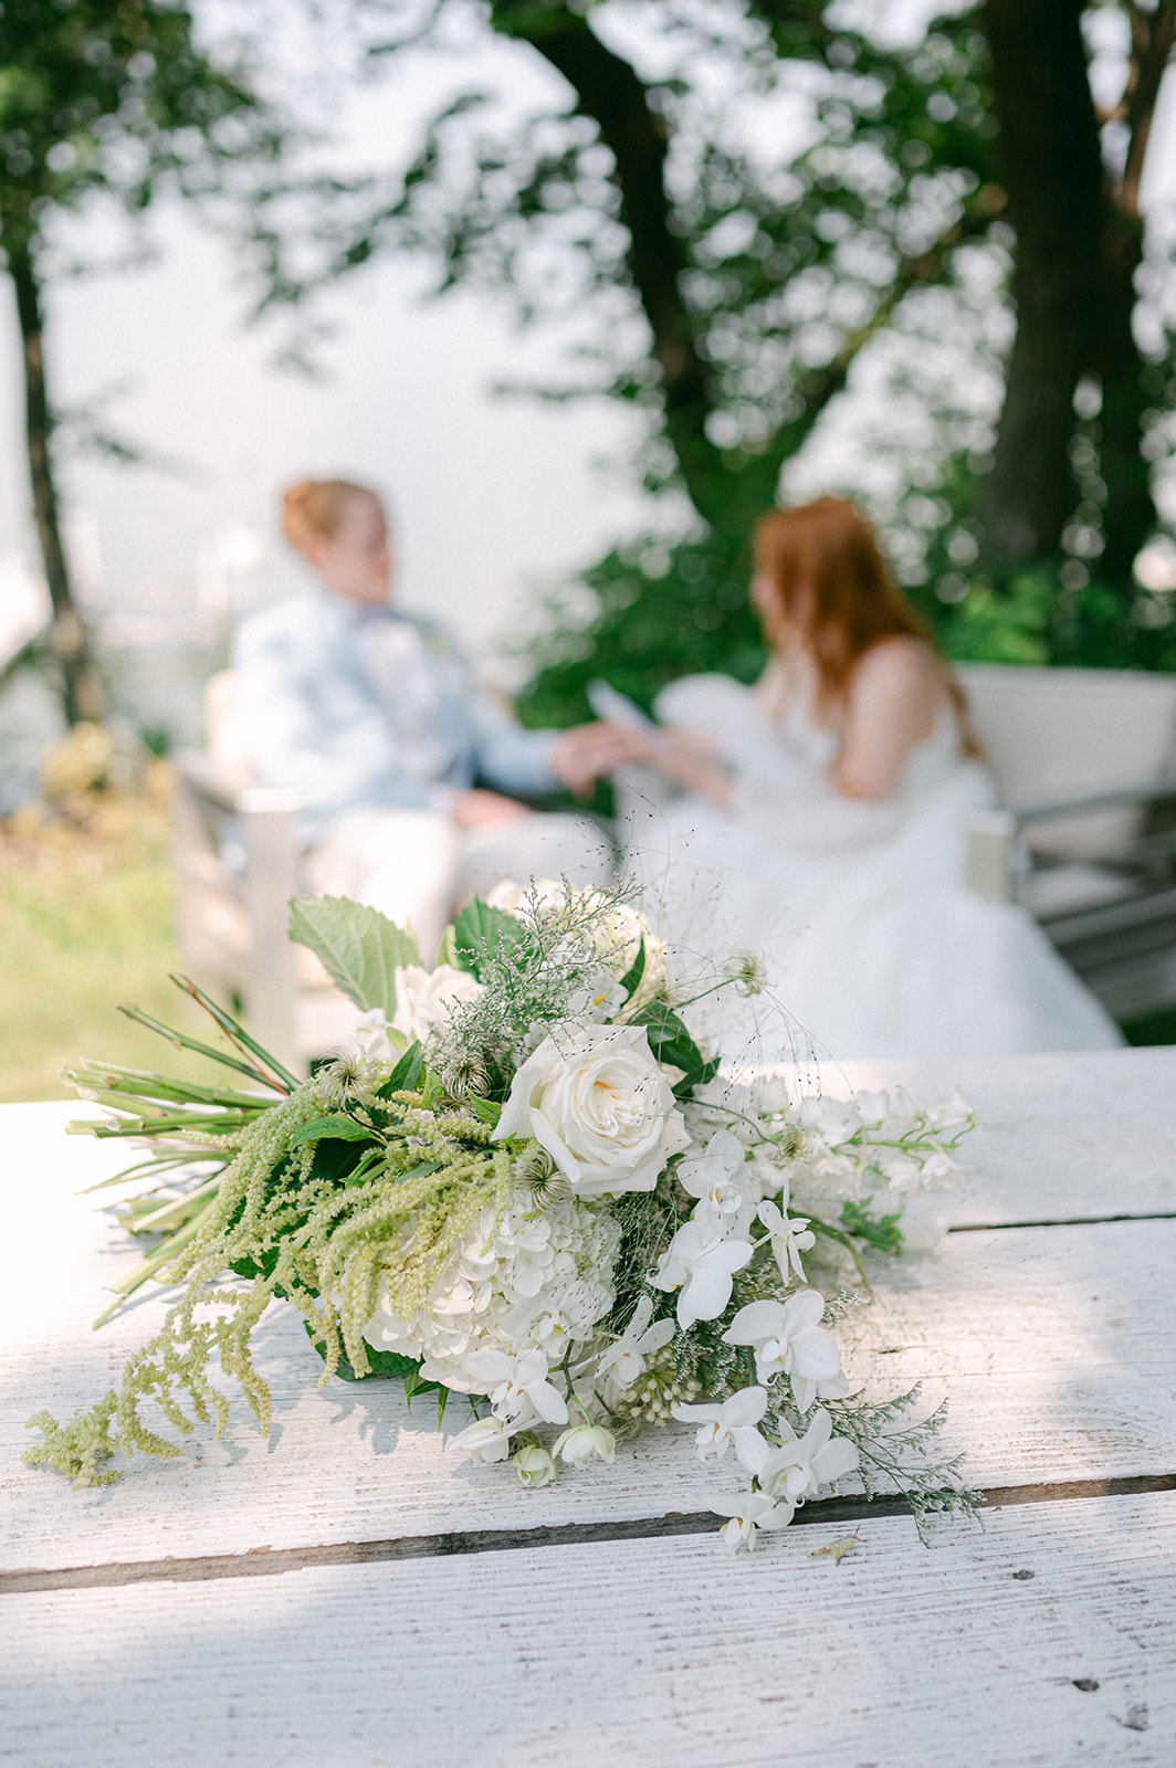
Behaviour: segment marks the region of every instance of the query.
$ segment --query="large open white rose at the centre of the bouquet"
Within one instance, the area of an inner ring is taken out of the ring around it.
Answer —
[[[532,1135],[578,1197],[651,1192],[690,1146],[644,1025],[564,1025],[527,1057],[495,1140]]]

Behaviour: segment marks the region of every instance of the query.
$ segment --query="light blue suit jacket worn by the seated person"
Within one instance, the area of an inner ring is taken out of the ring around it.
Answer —
[[[396,753],[386,702],[364,668],[371,621],[403,621],[423,638],[449,750],[437,780],[414,778]],[[318,840],[345,810],[444,810],[476,780],[502,792],[559,789],[554,730],[523,730],[442,626],[400,610],[361,610],[315,589],[249,615],[232,647],[237,741],[258,785],[294,787],[302,838]]]

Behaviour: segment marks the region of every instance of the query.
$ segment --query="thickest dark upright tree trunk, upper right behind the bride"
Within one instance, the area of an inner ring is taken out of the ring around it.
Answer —
[[[989,560],[1054,557],[1075,504],[1073,391],[1089,366],[1103,175],[1082,0],[987,0],[1017,338],[981,527]]]

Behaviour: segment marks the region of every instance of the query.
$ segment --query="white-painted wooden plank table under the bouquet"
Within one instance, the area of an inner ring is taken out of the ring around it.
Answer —
[[[73,1107],[0,1109],[0,1761],[1172,1768],[1176,1050],[824,1084],[895,1078],[958,1082],[983,1132],[852,1372],[950,1395],[985,1528],[928,1551],[851,1499],[737,1559],[679,1427],[523,1492],[394,1384],[317,1388],[278,1310],[267,1443],[235,1407],[99,1492],[23,1467],[28,1414],[97,1398],[161,1301],[90,1333],[138,1254],[76,1192],[126,1153],[65,1140]],[[842,1565],[812,1556],[852,1528]]]

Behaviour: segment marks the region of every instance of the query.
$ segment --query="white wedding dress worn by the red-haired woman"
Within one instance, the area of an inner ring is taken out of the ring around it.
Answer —
[[[702,974],[699,960],[760,953],[783,1010],[734,988],[709,995],[693,1011],[725,1048],[734,1038],[762,1059],[808,1045],[849,1059],[1123,1041],[1024,909],[966,888],[966,827],[994,787],[962,753],[946,697],[877,803],[829,783],[833,730],[798,711],[773,720],[759,690],[727,675],[672,682],[656,713],[707,735],[732,792],[727,808],[690,794],[631,815],[645,909],[683,974],[691,958]]]

